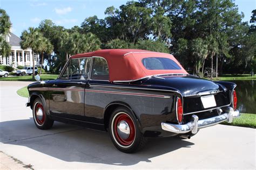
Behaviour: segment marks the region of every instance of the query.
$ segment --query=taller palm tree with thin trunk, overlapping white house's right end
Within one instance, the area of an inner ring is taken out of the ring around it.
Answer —
[[[22,49],[31,48],[32,49],[32,61],[33,61],[33,76],[32,78],[35,78],[35,58],[34,58],[34,51],[38,51],[38,45],[37,42],[42,37],[42,33],[38,31],[38,29],[35,29],[34,27],[29,27],[28,31],[25,30],[22,32],[21,36],[21,47]]]

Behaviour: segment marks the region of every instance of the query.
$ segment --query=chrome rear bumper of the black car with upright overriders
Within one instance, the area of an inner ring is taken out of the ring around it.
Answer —
[[[191,122],[187,124],[170,124],[170,123],[161,123],[161,128],[165,131],[170,131],[173,133],[188,133],[196,134],[198,129],[206,128],[208,126],[217,125],[221,122],[227,121],[228,123],[233,122],[233,118],[240,117],[240,112],[238,110],[234,110],[231,107],[226,109],[224,114],[219,116],[201,119],[198,120],[198,116],[192,115]]]

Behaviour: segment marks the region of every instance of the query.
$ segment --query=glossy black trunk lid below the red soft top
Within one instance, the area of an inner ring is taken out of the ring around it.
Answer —
[[[198,95],[206,91],[225,90],[225,87],[221,84],[191,75],[151,77],[143,82],[143,84],[174,88],[183,96]]]

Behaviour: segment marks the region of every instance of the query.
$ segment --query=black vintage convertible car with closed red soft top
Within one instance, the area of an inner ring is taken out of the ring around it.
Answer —
[[[189,75],[171,54],[105,49],[73,55],[56,80],[30,84],[26,105],[39,129],[59,121],[107,130],[130,153],[147,137],[190,138],[231,123],[240,116],[235,86]]]

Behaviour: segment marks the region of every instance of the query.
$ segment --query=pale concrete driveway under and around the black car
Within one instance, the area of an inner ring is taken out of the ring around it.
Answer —
[[[116,150],[106,132],[56,123],[39,130],[26,98],[28,82],[0,81],[0,151],[33,168],[255,169],[255,129],[216,125],[191,139],[152,138],[139,153]]]

